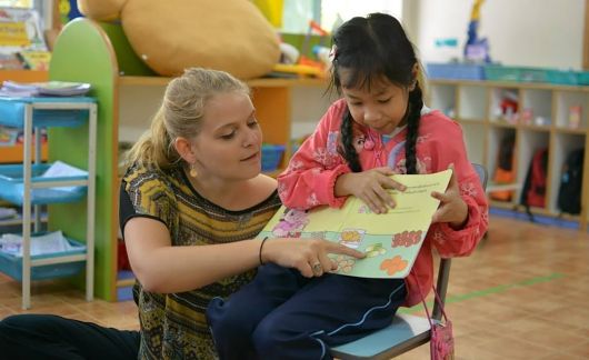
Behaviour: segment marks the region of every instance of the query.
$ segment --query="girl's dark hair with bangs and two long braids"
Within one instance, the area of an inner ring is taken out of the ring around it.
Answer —
[[[419,64],[413,44],[401,23],[386,13],[371,13],[366,18],[352,18],[333,34],[335,54],[331,67],[330,89],[341,93],[341,88],[367,88],[382,77],[402,88],[415,89],[409,93],[407,107],[407,141],[405,144],[407,173],[417,173],[416,143],[419,119],[423,107],[421,88],[413,73]],[[339,69],[346,68],[350,77],[341,83]],[[342,156],[355,172],[362,171],[353,147],[355,121],[347,110],[341,123]]]

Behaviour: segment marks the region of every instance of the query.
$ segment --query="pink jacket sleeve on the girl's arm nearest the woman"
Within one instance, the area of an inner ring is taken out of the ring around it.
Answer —
[[[287,208],[307,210],[320,204],[340,208],[346,197],[335,196],[336,180],[350,172],[339,154],[341,109],[332,106],[278,177],[278,191]]]

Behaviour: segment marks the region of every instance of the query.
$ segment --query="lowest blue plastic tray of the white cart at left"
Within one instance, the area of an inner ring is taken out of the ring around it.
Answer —
[[[31,257],[31,260],[49,259],[64,256],[86,253],[86,246],[76,240],[66,238],[74,249]],[[86,260],[64,263],[52,263],[31,268],[31,280],[46,280],[54,278],[71,277],[80,272],[86,266]],[[0,271],[11,278],[22,281],[22,257],[0,251]]]

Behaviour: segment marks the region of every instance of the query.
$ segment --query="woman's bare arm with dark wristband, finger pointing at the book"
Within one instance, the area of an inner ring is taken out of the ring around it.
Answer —
[[[311,266],[335,270],[328,253],[356,258],[363,254],[327,240],[268,239],[260,254],[260,239],[224,244],[172,247],[168,228],[158,220],[136,217],[124,226],[129,261],[147,291],[170,293],[190,291],[244,272],[262,262],[296,268],[312,277]],[[317,276],[317,273],[315,274]]]

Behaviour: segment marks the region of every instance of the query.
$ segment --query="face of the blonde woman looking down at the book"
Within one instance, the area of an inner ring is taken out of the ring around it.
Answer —
[[[221,93],[204,106],[202,127],[192,149],[198,177],[221,180],[251,179],[261,170],[262,133],[250,98]]]

